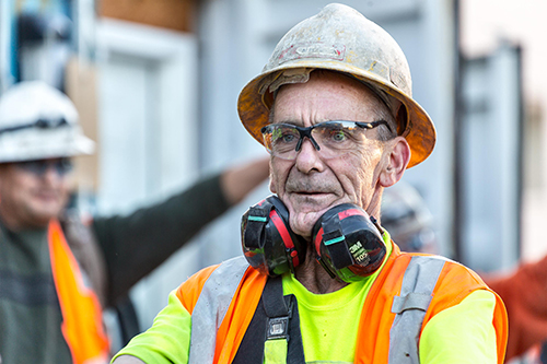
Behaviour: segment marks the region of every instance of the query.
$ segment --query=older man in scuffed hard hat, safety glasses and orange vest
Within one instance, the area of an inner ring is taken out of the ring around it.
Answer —
[[[502,363],[496,293],[380,224],[383,189],[435,142],[410,82],[395,40],[349,7],[289,31],[238,98],[275,193],[243,215],[244,257],[173,291],[114,362]]]

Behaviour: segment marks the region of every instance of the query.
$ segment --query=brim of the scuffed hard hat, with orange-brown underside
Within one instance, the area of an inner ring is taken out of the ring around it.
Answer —
[[[255,79],[251,80],[240,93],[237,98],[237,113],[245,129],[264,145],[260,129],[268,124],[270,108],[266,105],[260,89],[264,80],[278,71],[311,68],[324,69],[336,72],[348,73],[364,83],[370,83],[392,97],[401,102],[407,109],[408,120],[401,136],[406,138],[410,145],[411,156],[408,163],[408,168],[423,162],[433,151],[437,141],[437,131],[433,121],[428,113],[411,97],[393,84],[386,84],[379,75],[366,72],[360,68],[353,67],[346,62],[323,59],[296,59],[282,63],[276,68],[260,73]]]

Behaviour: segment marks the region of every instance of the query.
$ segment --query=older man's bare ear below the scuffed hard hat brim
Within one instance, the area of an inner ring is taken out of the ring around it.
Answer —
[[[380,185],[389,187],[395,185],[405,173],[410,161],[410,146],[403,137],[389,141],[391,151],[386,151],[387,161],[384,169],[380,173]]]

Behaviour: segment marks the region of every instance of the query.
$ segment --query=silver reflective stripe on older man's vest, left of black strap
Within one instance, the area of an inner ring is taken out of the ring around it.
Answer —
[[[212,363],[217,331],[247,268],[243,256],[226,260],[205,283],[191,313],[189,364]]]

